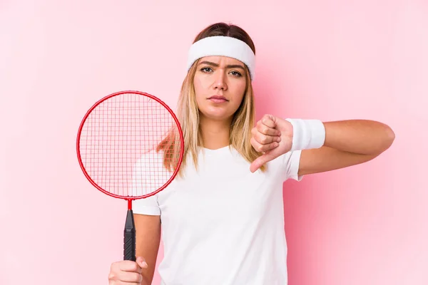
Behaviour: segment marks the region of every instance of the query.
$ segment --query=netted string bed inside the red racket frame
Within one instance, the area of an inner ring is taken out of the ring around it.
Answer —
[[[80,138],[83,165],[103,190],[148,195],[172,176],[156,147],[177,131],[173,116],[157,100],[133,93],[114,96],[86,118]],[[178,154],[171,159],[178,160]]]

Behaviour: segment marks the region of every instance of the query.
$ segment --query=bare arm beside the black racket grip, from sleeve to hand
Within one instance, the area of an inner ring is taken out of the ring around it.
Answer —
[[[146,259],[148,267],[143,269],[142,275],[147,284],[151,284],[161,243],[161,216],[134,214],[134,221],[136,224],[136,256]]]

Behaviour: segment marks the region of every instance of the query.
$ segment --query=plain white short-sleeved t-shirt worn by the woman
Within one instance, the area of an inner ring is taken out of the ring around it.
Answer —
[[[205,152],[205,155],[203,155]],[[201,149],[185,180],[133,202],[135,214],[161,215],[162,285],[285,285],[287,244],[282,183],[297,176],[301,151],[250,172],[234,149]]]

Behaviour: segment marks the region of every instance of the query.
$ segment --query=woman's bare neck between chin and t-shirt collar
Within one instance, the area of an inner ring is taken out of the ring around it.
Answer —
[[[210,150],[217,150],[229,145],[230,120],[212,120],[200,116],[200,132],[202,134],[203,146]]]

